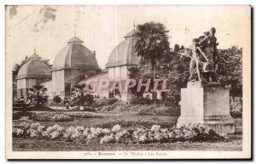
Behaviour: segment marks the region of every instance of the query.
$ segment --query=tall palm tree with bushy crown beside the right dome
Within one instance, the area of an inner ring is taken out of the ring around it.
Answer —
[[[135,50],[139,56],[142,56],[143,62],[149,62],[153,80],[155,79],[155,66],[168,52],[169,42],[167,37],[166,26],[161,23],[148,22],[143,25],[137,25],[137,42]],[[153,100],[155,102],[155,93]]]

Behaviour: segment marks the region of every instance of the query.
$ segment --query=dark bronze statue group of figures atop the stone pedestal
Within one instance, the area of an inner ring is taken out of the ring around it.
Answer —
[[[218,82],[218,63],[224,61],[217,52],[216,29],[204,32],[204,36],[194,38],[189,48],[189,81]]]

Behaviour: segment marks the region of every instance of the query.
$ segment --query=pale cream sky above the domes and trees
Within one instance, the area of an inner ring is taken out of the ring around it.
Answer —
[[[169,31],[170,47],[188,48],[195,37],[215,27],[218,48],[242,48],[250,26],[247,6],[8,6],[6,55],[9,65],[36,53],[54,62],[67,41],[79,37],[96,51],[102,69],[124,36],[148,21],[160,22]]]

